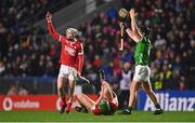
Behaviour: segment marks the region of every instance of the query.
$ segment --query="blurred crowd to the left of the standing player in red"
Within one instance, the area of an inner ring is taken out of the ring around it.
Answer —
[[[54,74],[46,30],[32,24],[44,18],[47,11],[55,12],[70,3],[72,0],[1,1],[0,77]]]

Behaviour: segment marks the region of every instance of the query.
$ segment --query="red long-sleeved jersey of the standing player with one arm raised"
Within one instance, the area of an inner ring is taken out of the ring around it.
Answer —
[[[58,35],[51,22],[48,22],[48,29],[50,35],[61,42],[61,59],[60,63],[62,65],[66,65],[69,67],[76,68],[79,72],[81,72],[83,66],[83,46],[79,41],[70,42],[66,39],[66,37]]]

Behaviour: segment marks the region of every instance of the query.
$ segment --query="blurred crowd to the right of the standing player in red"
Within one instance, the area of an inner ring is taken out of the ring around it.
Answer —
[[[195,2],[190,0],[123,0],[122,6],[138,11],[140,26],[151,28],[152,85],[155,90],[195,88]],[[127,38],[119,52],[120,31],[117,11],[94,15],[81,25],[84,40],[86,72],[95,79],[98,69],[106,71],[108,81],[117,87],[121,66],[133,64],[133,42]],[[115,84],[116,83],[116,84]],[[119,86],[118,86],[119,87]],[[117,88],[116,88],[117,90]]]

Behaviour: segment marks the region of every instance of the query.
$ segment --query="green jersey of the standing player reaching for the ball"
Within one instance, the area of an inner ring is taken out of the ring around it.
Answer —
[[[146,66],[150,63],[150,52],[151,52],[151,41],[147,37],[143,37],[135,46],[134,58],[135,66],[143,65]]]

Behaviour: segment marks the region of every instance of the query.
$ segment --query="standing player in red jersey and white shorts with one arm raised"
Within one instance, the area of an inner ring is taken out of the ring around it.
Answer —
[[[83,67],[83,47],[82,43],[77,40],[78,30],[75,28],[67,28],[65,36],[58,35],[52,26],[52,14],[47,13],[47,23],[50,35],[54,40],[61,42],[61,68],[57,77],[57,92],[62,99],[62,108],[60,113],[65,110],[69,112],[73,104],[73,93],[75,88],[75,81],[77,76],[81,74]],[[69,99],[66,102],[64,86],[69,82]]]

